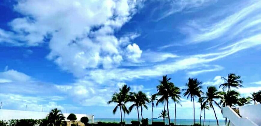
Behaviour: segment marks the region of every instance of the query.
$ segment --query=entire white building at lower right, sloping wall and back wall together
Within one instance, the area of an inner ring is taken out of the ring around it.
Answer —
[[[261,104],[238,108],[223,107],[223,117],[231,126],[261,126]]]

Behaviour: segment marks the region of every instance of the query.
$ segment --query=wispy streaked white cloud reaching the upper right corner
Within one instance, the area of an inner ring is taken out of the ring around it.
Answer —
[[[189,43],[198,43],[204,41],[210,41],[216,38],[219,38],[223,35],[229,34],[229,37],[235,36],[239,32],[243,32],[248,28],[253,28],[253,26],[260,26],[260,22],[257,20],[257,16],[260,11],[260,1],[250,1],[247,4],[244,4],[243,8],[230,16],[222,18],[216,22],[217,18],[209,19],[196,19],[188,22],[187,27],[182,28],[182,31],[189,35],[187,42]],[[231,8],[228,8],[231,9]],[[224,10],[222,10],[224,11]],[[257,14],[257,16],[250,16],[251,14]],[[227,14],[227,13],[225,13]],[[220,16],[219,13],[216,14]],[[244,21],[245,20],[245,21]],[[240,23],[242,21],[242,23]],[[229,33],[227,33],[229,30]],[[246,32],[243,32],[245,34]],[[248,34],[248,33],[247,33]],[[246,34],[246,35],[247,35]],[[253,32],[255,34],[255,32]]]

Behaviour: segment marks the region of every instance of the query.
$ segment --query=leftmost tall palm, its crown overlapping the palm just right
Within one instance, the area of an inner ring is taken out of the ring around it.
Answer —
[[[117,109],[120,107],[121,111],[121,124],[122,124],[122,110],[128,112],[127,107],[124,104],[124,99],[122,98],[122,95],[120,93],[114,93],[112,96],[112,99],[108,101],[108,104],[116,103],[116,107],[113,109],[113,114],[116,113]]]

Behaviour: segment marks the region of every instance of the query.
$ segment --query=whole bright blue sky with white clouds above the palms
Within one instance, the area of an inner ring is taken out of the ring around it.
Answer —
[[[153,94],[165,74],[181,88],[198,78],[206,91],[236,73],[242,96],[261,90],[258,0],[3,0],[0,10],[3,109],[119,118],[107,104],[119,87]],[[192,102],[181,103],[177,119],[193,119]]]

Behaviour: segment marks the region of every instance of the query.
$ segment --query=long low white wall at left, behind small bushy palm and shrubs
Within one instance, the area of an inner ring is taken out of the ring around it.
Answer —
[[[33,111],[20,111],[20,110],[0,110],[0,120],[10,120],[10,119],[44,119],[49,113],[46,112],[33,112]],[[70,113],[63,113],[65,119]],[[84,116],[88,117],[89,122],[94,122],[93,115],[86,114],[75,114],[77,121]],[[69,120],[66,120],[69,121]]]

